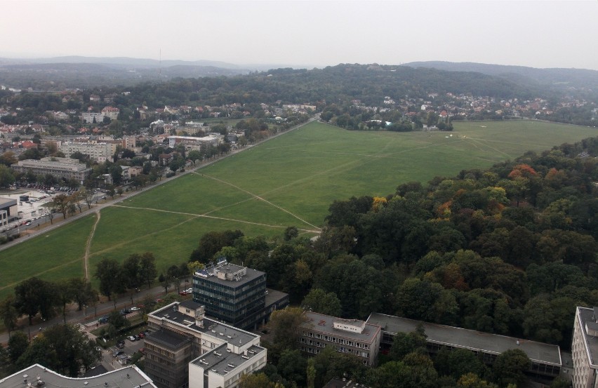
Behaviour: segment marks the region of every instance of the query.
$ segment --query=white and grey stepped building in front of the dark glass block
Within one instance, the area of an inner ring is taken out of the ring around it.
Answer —
[[[192,300],[151,312],[145,370],[159,388],[233,388],[238,377],[265,366],[260,336],[208,319]]]

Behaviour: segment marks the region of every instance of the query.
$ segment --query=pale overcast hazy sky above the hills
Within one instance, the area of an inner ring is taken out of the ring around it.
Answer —
[[[598,1],[1,1],[0,56],[598,70]]]

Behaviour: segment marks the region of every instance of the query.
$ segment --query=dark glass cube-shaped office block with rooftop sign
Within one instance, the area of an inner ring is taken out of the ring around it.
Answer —
[[[226,260],[193,275],[193,300],[206,314],[238,328],[256,328],[276,309],[288,305],[288,294],[266,290],[266,274]]]

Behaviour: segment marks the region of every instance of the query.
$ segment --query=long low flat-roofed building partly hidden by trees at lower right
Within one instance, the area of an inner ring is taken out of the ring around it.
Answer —
[[[437,353],[441,348],[467,349],[481,355],[485,363],[491,364],[499,354],[506,350],[521,349],[531,361],[529,370],[531,375],[557,377],[562,367],[561,351],[557,345],[380,313],[370,314],[367,322],[382,328],[382,340],[380,341],[382,349],[390,349],[397,333],[411,333],[416,330],[418,325],[421,325],[427,335],[427,350],[432,354]]]

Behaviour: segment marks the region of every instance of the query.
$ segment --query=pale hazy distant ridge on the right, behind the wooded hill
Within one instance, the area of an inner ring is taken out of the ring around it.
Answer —
[[[410,62],[408,67],[425,67],[447,72],[477,72],[498,76],[525,85],[552,86],[553,88],[590,88],[598,92],[598,71],[587,69],[536,69],[534,67],[489,65],[474,62]]]

